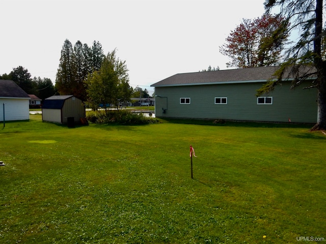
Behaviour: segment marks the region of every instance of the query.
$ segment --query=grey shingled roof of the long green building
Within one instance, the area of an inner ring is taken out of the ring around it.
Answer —
[[[256,67],[246,69],[230,69],[218,71],[206,71],[196,73],[176,74],[151,86],[180,86],[180,85],[204,85],[226,83],[266,82],[273,78],[273,74],[279,66]],[[288,79],[293,76],[288,76]]]

